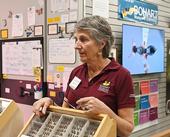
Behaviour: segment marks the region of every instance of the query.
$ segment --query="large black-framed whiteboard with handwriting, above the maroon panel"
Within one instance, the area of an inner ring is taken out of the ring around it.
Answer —
[[[2,74],[34,76],[34,68],[43,68],[43,38],[1,40]]]

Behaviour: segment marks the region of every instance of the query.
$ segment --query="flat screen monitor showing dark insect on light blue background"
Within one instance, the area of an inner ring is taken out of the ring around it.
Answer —
[[[130,73],[164,72],[164,30],[123,24],[122,65]]]

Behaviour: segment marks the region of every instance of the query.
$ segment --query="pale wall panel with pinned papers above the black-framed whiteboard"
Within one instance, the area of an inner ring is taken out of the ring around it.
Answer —
[[[34,37],[34,26],[44,26],[45,0],[5,0],[0,5],[0,38]],[[9,4],[10,3],[10,4]],[[7,30],[7,31],[6,31]]]

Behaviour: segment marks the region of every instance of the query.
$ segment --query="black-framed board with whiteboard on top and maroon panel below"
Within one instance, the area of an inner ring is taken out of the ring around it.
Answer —
[[[35,86],[45,95],[43,43],[43,37],[0,40],[2,97],[32,105]]]

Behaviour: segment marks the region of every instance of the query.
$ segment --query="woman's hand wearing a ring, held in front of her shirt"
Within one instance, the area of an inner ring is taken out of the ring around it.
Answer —
[[[107,109],[109,109],[107,105],[95,97],[84,97],[79,99],[76,103],[78,104],[78,109],[86,110],[93,114],[104,114],[107,112]]]

